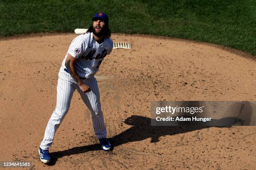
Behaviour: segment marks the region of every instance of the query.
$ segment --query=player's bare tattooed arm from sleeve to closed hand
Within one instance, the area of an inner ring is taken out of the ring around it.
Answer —
[[[80,79],[80,77],[77,75],[77,71],[74,67],[74,63],[76,62],[76,58],[73,57],[72,55],[70,55],[68,53],[67,55],[67,59],[66,59],[66,63],[65,66],[67,68],[67,70],[69,71],[69,74],[71,75],[71,77],[77,82],[79,88],[82,90],[82,92],[90,92],[90,87],[87,86],[86,84],[84,84],[82,82],[82,80]]]

